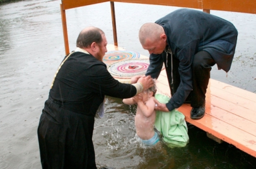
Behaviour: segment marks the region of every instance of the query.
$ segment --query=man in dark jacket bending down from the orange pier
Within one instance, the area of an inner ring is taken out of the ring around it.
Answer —
[[[139,41],[149,51],[146,75],[157,78],[165,64],[171,99],[156,110],[171,111],[191,103],[190,118],[203,118],[210,71],[228,72],[235,54],[238,32],[222,18],[192,9],[178,9],[155,23],[145,23]]]

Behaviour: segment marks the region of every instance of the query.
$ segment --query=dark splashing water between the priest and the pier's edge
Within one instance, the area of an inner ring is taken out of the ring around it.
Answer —
[[[189,123],[187,146],[169,148],[161,140],[160,145],[145,147],[135,137],[136,107],[112,97],[106,97],[106,102],[106,114],[96,120],[93,137],[99,166],[183,169],[254,168],[256,165],[254,157],[232,145],[218,144]]]

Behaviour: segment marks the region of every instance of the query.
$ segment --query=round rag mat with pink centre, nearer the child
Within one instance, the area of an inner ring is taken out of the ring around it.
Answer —
[[[108,71],[114,78],[130,79],[136,75],[144,75],[149,66],[149,59],[129,59],[109,64]]]

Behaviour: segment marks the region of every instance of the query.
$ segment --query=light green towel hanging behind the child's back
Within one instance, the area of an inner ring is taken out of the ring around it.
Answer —
[[[155,98],[160,103],[167,103],[170,100],[161,94],[157,94]],[[169,147],[184,147],[189,142],[185,116],[176,109],[170,112],[156,111],[155,127]]]

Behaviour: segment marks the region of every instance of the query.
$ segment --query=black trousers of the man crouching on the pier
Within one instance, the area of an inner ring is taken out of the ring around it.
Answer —
[[[163,58],[171,90],[171,96],[173,96],[173,94],[176,93],[177,88],[180,85],[180,61],[174,56],[172,57],[171,60],[169,55],[166,65],[166,56],[163,56]],[[186,101],[191,101],[191,107],[199,107],[203,105],[203,103],[205,102],[205,94],[210,79],[210,71],[212,70],[212,66],[214,66],[215,63],[216,62],[214,61],[213,57],[209,53],[207,53],[207,51],[199,51],[199,53],[195,54],[192,64],[193,90],[186,99]],[[171,65],[173,66],[173,68],[171,68]]]

